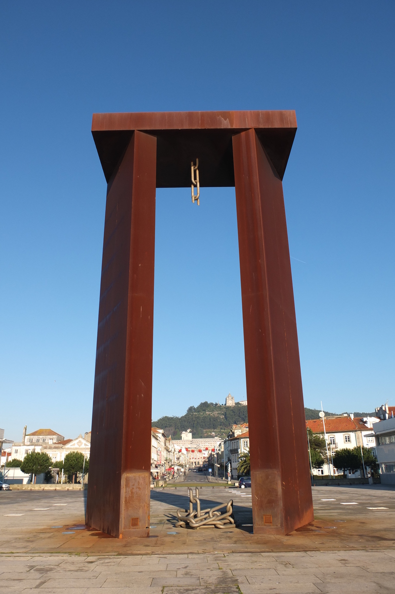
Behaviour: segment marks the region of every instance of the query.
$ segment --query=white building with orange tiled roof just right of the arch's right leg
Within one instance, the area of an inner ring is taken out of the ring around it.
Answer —
[[[313,475],[343,474],[343,470],[338,470],[333,466],[333,454],[342,448],[366,447],[372,448],[372,454],[376,455],[376,442],[372,434],[374,424],[380,419],[374,416],[355,417],[352,413],[348,415],[324,417],[326,441],[330,463],[324,464],[321,468],[313,468]],[[306,428],[313,433],[324,435],[323,419],[309,419],[306,421]],[[361,478],[361,472],[357,470],[354,474],[347,471],[347,476],[352,478]]]

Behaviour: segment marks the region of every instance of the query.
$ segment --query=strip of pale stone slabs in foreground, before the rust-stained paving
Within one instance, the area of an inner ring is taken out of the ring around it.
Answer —
[[[88,557],[2,555],[0,592],[255,594],[394,592],[395,551]]]

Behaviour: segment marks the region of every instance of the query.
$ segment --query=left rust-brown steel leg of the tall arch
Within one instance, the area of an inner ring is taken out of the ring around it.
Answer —
[[[135,131],[107,189],[86,522],[148,536],[157,140]]]

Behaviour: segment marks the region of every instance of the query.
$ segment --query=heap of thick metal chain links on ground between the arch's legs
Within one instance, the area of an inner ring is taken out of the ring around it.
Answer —
[[[193,509],[193,504],[196,503],[196,511]],[[189,510],[178,509],[177,528],[228,528],[229,524],[235,525],[234,516],[232,512],[233,500],[228,503],[221,503],[216,507],[208,508],[207,510],[200,509],[199,489],[196,487],[196,495],[193,495],[193,490],[189,489]],[[226,507],[226,511],[221,513],[222,507]]]

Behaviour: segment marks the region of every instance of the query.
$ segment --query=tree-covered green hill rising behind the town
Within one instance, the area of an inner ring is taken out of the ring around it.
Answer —
[[[305,408],[307,420],[318,419],[320,410]],[[324,411],[326,416],[335,413]],[[355,416],[371,416],[373,413],[354,413]],[[198,406],[190,406],[183,416],[161,416],[152,421],[152,426],[163,429],[166,435],[173,439],[181,438],[181,431],[192,431],[193,437],[202,438],[205,434],[215,431],[216,434],[227,434],[232,425],[248,422],[248,407],[240,405],[225,406],[214,402],[201,402]]]

